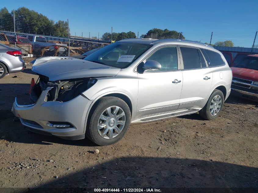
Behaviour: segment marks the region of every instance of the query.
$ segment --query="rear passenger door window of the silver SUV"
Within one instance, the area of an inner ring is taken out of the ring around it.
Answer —
[[[184,69],[197,69],[201,68],[201,60],[199,57],[198,49],[180,47],[183,57]]]

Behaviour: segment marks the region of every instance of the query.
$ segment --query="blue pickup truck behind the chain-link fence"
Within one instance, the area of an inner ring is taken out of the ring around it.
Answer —
[[[42,49],[48,46],[52,45],[62,45],[67,46],[67,44],[58,44],[58,43],[51,43],[47,42],[46,38],[44,36],[37,36],[37,35],[23,35],[23,37],[26,37],[29,39],[33,46],[33,55],[35,57],[39,57],[42,54]]]

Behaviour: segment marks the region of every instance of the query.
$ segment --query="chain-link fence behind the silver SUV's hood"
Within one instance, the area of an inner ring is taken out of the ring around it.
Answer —
[[[0,31],[0,43],[11,47],[19,47],[22,50],[22,57],[33,58],[81,55],[109,44],[98,40],[86,41],[80,38],[59,38],[6,31]]]

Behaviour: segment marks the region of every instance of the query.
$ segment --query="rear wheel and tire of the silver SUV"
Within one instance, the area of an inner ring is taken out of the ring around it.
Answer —
[[[215,96],[219,96],[219,97],[216,97],[216,99],[214,101],[213,99]],[[218,99],[218,101],[216,101],[217,99]],[[219,99],[221,99],[221,104],[219,102],[220,101]],[[217,111],[215,111],[214,108],[212,107],[214,105],[215,105],[215,107],[220,105],[220,109],[217,109]],[[206,120],[216,119],[220,115],[223,105],[224,105],[224,95],[220,90],[215,89],[213,91],[213,93],[210,95],[209,100],[207,101],[206,105],[199,111],[199,114],[202,118],[204,118]],[[210,108],[212,108],[212,109],[210,110]]]

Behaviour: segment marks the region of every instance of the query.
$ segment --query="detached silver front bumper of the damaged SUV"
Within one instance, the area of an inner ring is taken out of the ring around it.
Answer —
[[[46,101],[46,96],[52,88],[48,87],[43,91],[38,101],[32,105],[19,105],[15,98],[13,114],[20,118],[24,126],[31,128],[30,130],[36,133],[44,132],[72,140],[84,138],[85,118],[93,101],[82,95],[67,102]],[[57,128],[53,127],[53,122],[70,123],[71,125],[66,128]]]

